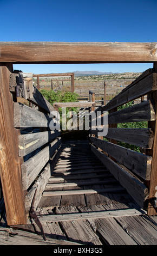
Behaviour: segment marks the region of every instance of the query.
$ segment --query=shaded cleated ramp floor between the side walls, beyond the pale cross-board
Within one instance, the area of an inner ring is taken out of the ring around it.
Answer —
[[[132,202],[126,190],[90,151],[89,142],[63,144],[60,159],[48,181],[41,207],[89,206]]]

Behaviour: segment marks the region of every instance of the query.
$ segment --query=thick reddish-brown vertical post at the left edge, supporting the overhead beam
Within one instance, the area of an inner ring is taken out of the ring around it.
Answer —
[[[12,64],[0,63],[0,175],[8,225],[26,224],[18,156],[18,130],[14,128],[14,102],[9,91]]]

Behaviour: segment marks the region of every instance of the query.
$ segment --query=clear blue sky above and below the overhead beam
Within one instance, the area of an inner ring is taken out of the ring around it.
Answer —
[[[157,0],[0,0],[0,41],[156,42]],[[14,64],[34,74],[142,72],[146,64]]]

